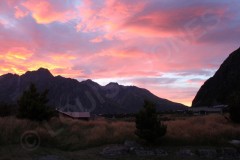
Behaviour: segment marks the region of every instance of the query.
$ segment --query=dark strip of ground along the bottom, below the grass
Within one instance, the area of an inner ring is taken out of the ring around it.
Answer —
[[[87,150],[61,151],[53,148],[38,148],[27,151],[19,145],[0,147],[0,160],[239,160],[239,150],[234,147],[161,147],[156,150],[124,150],[124,145],[108,145]],[[131,149],[131,148],[129,148]],[[158,151],[158,152],[157,152]]]

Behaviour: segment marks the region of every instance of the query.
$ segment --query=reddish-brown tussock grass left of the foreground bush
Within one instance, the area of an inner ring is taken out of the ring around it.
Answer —
[[[19,144],[23,133],[30,130],[38,133],[42,146],[64,150],[123,143],[135,138],[135,124],[123,121],[53,118],[49,122],[37,123],[5,117],[0,118],[0,145]]]

